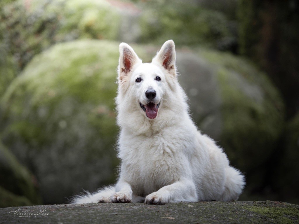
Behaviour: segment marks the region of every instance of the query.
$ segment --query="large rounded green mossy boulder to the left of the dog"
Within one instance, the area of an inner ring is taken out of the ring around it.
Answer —
[[[33,58],[2,99],[2,139],[36,174],[45,203],[115,180],[118,45],[54,45]]]

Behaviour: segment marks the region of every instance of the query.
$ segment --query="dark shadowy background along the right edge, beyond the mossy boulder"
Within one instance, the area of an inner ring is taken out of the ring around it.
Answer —
[[[239,0],[239,53],[265,70],[286,105],[286,127],[265,166],[265,194],[298,203],[299,1]],[[266,170],[266,169],[265,169]]]

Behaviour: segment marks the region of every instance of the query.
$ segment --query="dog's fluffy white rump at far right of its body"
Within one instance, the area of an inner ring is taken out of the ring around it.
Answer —
[[[244,175],[237,169],[226,167],[225,190],[220,198],[220,201],[238,200],[245,186]]]

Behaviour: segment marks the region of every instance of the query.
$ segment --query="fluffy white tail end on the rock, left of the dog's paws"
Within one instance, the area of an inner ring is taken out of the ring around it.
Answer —
[[[77,195],[71,200],[71,204],[87,204],[87,203],[98,203],[98,202],[111,202],[111,195],[115,193],[115,187],[108,186],[101,188],[96,192]]]

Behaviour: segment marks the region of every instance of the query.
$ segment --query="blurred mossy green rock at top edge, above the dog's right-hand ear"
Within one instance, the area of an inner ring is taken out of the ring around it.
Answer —
[[[237,25],[220,11],[196,4],[196,1],[145,1],[140,4],[141,42],[162,44],[173,39],[176,45],[210,46],[235,51]]]

